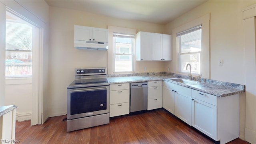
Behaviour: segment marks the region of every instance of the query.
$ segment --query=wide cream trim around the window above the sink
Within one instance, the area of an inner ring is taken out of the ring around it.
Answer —
[[[203,78],[210,78],[210,14],[206,14],[200,18],[197,18],[195,20],[192,20],[182,26],[179,26],[177,28],[174,28],[172,30],[172,35],[176,36],[179,32],[182,32],[184,30],[188,30],[190,28],[193,28],[195,26],[198,26],[202,24],[202,51],[201,51],[201,62],[203,68],[201,68],[201,76]],[[174,58],[173,60],[173,72],[177,72],[178,74],[188,74],[184,72],[179,72],[179,59],[178,59],[178,38],[172,39],[173,44],[173,52],[174,52]],[[176,51],[176,52],[175,52]],[[198,75],[198,74],[197,74]]]

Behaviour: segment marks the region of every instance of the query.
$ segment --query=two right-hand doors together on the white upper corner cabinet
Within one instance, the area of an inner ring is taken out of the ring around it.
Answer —
[[[152,60],[172,60],[172,36],[152,33]]]

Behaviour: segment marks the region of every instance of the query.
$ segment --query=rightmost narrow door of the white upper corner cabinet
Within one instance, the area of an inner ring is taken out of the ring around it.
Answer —
[[[172,60],[172,35],[162,35],[162,59]]]

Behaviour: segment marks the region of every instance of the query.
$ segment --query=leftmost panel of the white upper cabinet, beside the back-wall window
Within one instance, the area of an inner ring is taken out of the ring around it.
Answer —
[[[151,32],[138,32],[136,36],[136,60],[152,60],[151,38]]]

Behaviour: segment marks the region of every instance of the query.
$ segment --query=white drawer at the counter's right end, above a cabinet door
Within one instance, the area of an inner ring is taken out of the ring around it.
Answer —
[[[217,96],[200,92],[198,90],[192,90],[191,92],[192,92],[192,95],[191,95],[192,98],[196,98],[198,100],[202,100],[203,102],[207,102],[209,104],[217,106]]]

